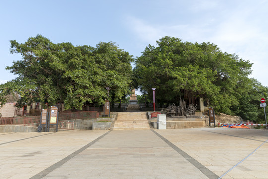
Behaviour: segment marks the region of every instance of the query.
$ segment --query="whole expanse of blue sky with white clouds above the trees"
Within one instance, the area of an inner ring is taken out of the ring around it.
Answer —
[[[41,34],[53,43],[116,42],[134,57],[164,36],[212,42],[254,63],[250,77],[268,86],[268,0],[0,0],[0,83],[24,43]]]

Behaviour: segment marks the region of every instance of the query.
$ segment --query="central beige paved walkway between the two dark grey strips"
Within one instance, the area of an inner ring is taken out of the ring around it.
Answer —
[[[208,179],[150,130],[111,131],[43,179],[63,171],[69,179]]]

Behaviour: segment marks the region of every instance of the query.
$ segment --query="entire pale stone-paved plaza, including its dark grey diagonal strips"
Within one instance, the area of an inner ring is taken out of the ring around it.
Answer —
[[[268,179],[268,130],[0,133],[0,179]]]

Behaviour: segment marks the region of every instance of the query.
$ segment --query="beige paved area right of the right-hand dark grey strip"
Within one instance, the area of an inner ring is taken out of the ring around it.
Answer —
[[[268,139],[267,130],[253,129],[198,128],[157,132],[218,176],[241,162]],[[222,179],[268,179],[267,151],[268,142]]]

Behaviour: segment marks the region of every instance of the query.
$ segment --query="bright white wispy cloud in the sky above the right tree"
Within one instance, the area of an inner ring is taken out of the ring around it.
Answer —
[[[193,12],[201,13],[200,16],[186,17],[189,18],[187,21],[178,19],[177,23],[159,21],[156,24],[146,19],[129,16],[127,26],[139,41],[146,44],[154,45],[156,40],[164,36],[178,37],[190,42],[213,42],[222,51],[236,53],[241,58],[254,63],[252,77],[268,86],[262,70],[268,67],[268,20],[266,19],[268,12],[265,10],[268,1],[260,1],[259,4],[248,2],[235,1],[230,9],[226,8],[218,12],[221,5],[228,6],[225,1],[221,1],[220,4],[205,0],[189,7]],[[207,8],[215,9],[207,14]]]

